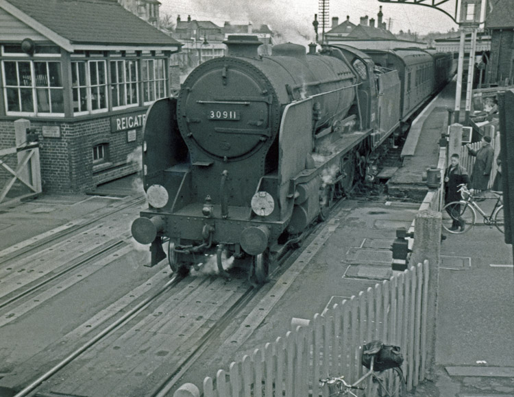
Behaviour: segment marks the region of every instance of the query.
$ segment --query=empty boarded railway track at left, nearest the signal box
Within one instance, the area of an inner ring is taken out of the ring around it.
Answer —
[[[141,199],[131,199],[114,210],[101,212],[67,229],[45,233],[42,238],[38,236],[32,244],[28,243],[34,239],[2,251],[0,310],[12,307],[29,294],[44,290],[53,281],[75,270],[115,255],[119,249],[130,244],[130,234],[123,225],[116,227],[118,221],[112,220],[112,217],[141,202]],[[116,237],[110,238],[110,235]],[[12,320],[12,316],[8,318]],[[0,320],[0,324],[3,323]]]

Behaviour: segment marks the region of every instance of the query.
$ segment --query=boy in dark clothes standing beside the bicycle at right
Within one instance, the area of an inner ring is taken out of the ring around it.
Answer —
[[[445,204],[451,203],[452,201],[461,200],[461,193],[458,192],[458,185],[463,183],[465,185],[469,184],[469,176],[467,175],[467,170],[458,164],[458,162],[458,154],[452,154],[450,157],[450,166],[448,166],[444,172]],[[461,230],[464,230],[465,221],[460,216],[461,205],[456,203],[448,207],[446,211],[453,218],[452,227],[450,230],[457,230],[458,227],[461,227]]]

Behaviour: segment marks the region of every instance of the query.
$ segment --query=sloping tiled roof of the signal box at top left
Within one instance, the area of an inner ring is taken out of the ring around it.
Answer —
[[[0,8],[36,30],[51,31],[71,47],[74,44],[112,47],[181,45],[125,10],[116,0],[0,0]]]

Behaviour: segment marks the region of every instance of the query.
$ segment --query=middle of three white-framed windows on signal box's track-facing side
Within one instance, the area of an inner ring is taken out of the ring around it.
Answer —
[[[112,108],[114,110],[138,105],[139,89],[135,60],[110,62]]]

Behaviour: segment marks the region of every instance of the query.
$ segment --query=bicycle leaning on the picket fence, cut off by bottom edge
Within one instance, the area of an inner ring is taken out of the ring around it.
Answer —
[[[347,383],[344,380],[344,376],[332,376],[327,379],[320,379],[319,385],[321,387],[328,385],[328,397],[346,395],[358,397],[357,394],[352,392],[352,389],[365,390],[366,386],[360,386],[360,384],[371,376],[371,379],[373,380],[373,389],[370,393],[367,393],[366,396],[406,396],[406,380],[400,367],[393,367],[382,371],[374,370],[375,358],[379,351],[380,348],[378,348],[378,350],[366,350],[364,352],[372,355],[371,363],[369,364],[369,371],[361,376],[355,383]]]

